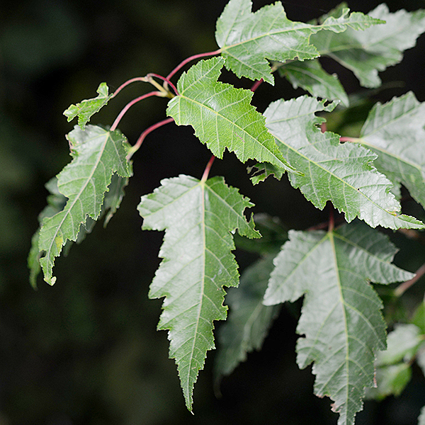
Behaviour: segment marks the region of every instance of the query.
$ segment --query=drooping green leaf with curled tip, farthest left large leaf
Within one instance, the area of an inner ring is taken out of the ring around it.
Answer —
[[[40,265],[50,285],[56,280],[52,276],[55,257],[68,240],[77,240],[89,217],[98,219],[113,174],[131,176],[126,139],[118,130],[88,125],[83,131],[76,126],[67,139],[73,160],[57,175],[57,188],[68,198],[67,204],[52,217],[45,217],[40,228]]]

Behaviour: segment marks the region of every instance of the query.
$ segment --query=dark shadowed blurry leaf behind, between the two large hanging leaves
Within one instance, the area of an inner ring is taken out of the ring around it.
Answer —
[[[268,334],[280,305],[263,305],[268,278],[273,270],[275,254],[267,254],[245,269],[239,287],[230,288],[226,295],[229,318],[218,333],[220,342],[215,357],[215,380],[232,373],[246,361],[247,353],[259,350]]]

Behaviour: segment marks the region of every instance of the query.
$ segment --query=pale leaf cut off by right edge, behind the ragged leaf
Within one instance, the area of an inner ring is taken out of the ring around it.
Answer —
[[[402,183],[425,208],[425,103],[409,92],[368,115],[359,142],[378,154],[375,166],[388,179]]]

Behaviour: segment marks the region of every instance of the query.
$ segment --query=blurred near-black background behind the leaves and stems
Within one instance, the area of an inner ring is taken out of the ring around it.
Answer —
[[[26,255],[45,206],[45,182],[70,160],[62,111],[96,96],[101,81],[112,90],[148,72],[166,75],[186,57],[216,50],[215,21],[226,1],[214,0],[30,0],[3,1],[0,21],[0,425],[18,424],[335,424],[329,399],[312,395],[311,368],[295,363],[296,319],[287,310],[276,321],[261,353],[222,382],[222,398],[212,391],[210,352],[187,412],[174,361],[168,359],[166,332],[156,331],[162,300],[148,300],[159,259],[159,232],[141,232],[136,211],[140,196],[159,181],[179,174],[200,178],[210,154],[190,128],[166,125],[145,140],[133,157],[134,176],[118,213],[66,259],[56,261],[53,288],[28,284]],[[5,4],[6,3],[6,4]],[[254,0],[254,10],[267,4]],[[338,1],[284,1],[288,18],[309,21]],[[377,1],[351,1],[368,12]],[[425,7],[424,0],[391,1],[391,11]],[[399,81],[378,91],[387,101],[414,90],[425,101],[425,38],[404,62],[381,74]],[[340,72],[348,91],[360,88],[350,72]],[[333,68],[332,68],[333,67]],[[248,88],[225,73],[223,79]],[[111,125],[120,109],[150,90],[135,84],[111,101],[91,123]],[[254,104],[290,98],[285,81],[263,86]],[[134,143],[142,130],[165,118],[166,101],[150,98],[130,109],[120,130]],[[224,175],[254,201],[255,212],[280,217],[289,228],[305,229],[326,220],[286,179],[251,186],[246,167],[234,155],[216,160],[210,176]],[[419,211],[419,215],[423,212]],[[402,240],[399,244],[403,244]],[[409,245],[397,257],[416,270],[423,246]],[[242,250],[243,269],[255,256]],[[422,285],[417,294],[422,296]],[[217,327],[220,326],[217,323]],[[404,395],[380,404],[367,402],[357,424],[416,424],[425,404],[419,370]]]

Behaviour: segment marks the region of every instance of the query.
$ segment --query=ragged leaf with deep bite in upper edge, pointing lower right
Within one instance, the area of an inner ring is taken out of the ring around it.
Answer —
[[[264,112],[280,152],[300,171],[289,175],[290,183],[319,209],[331,200],[348,222],[358,217],[371,227],[423,228],[414,217],[398,215],[400,205],[390,192],[392,183],[373,167],[373,152],[341,144],[339,135],[317,127],[324,118],[314,113],[333,107],[302,96],[273,102]]]

